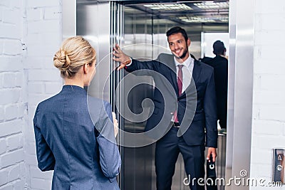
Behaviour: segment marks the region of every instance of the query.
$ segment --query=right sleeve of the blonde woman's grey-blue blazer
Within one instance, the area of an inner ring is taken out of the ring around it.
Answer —
[[[104,102],[100,112],[99,125],[97,128],[100,129],[100,133],[96,139],[99,144],[100,166],[103,174],[113,182],[120,173],[121,159],[115,140],[111,106],[108,102]]]

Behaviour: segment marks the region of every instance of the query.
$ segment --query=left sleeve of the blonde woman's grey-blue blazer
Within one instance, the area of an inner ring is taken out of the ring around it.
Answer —
[[[43,134],[41,134],[40,125],[37,120],[38,107],[36,108],[36,114],[33,117],[33,130],[35,132],[36,139],[36,157],[38,159],[38,168],[41,171],[53,170],[54,165],[56,164],[56,159],[51,152],[50,147],[46,143]]]

